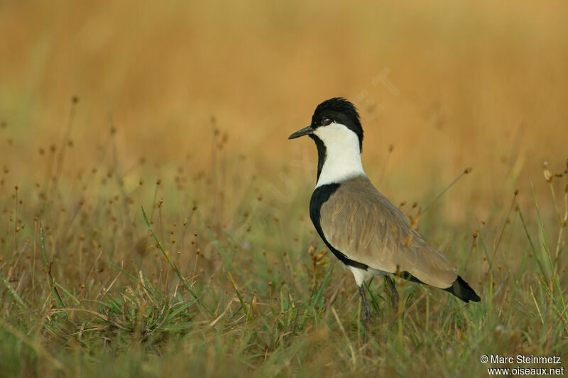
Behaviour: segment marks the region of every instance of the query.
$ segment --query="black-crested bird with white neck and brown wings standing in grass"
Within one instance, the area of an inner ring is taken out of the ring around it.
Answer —
[[[323,101],[310,126],[288,139],[304,135],[314,140],[317,149],[310,218],[327,248],[354,275],[365,339],[371,318],[364,289],[368,277],[385,277],[393,308],[398,308],[398,291],[392,276],[443,289],[466,303],[481,300],[367,177],[361,163],[363,128],[354,104],[343,97]]]

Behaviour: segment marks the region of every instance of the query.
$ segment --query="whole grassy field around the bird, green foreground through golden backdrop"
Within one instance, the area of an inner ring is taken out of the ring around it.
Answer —
[[[482,354],[565,359],[567,11],[4,2],[3,372],[452,377],[486,374]],[[315,148],[286,140],[338,95],[411,218],[473,167],[418,226],[481,304],[398,282],[393,322],[375,280],[361,346],[356,287],[307,216]]]

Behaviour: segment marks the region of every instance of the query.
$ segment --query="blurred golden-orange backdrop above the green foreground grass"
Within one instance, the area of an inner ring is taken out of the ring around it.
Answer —
[[[174,167],[189,154],[191,169],[207,171],[217,128],[226,157],[248,162],[231,169],[264,177],[286,169],[311,186],[297,172],[312,172],[312,143],[286,138],[332,96],[361,110],[364,166],[376,184],[385,169],[378,187],[395,201],[428,201],[435,193],[422,197],[421,187],[442,188],[471,166],[444,206],[474,201],[484,217],[515,187],[528,194],[529,180],[547,190],[543,161],[564,169],[562,1],[4,1],[0,9],[8,184],[45,170],[38,151],[65,138],[72,96],[80,102],[63,177],[97,165],[111,128],[124,169],[141,158]]]

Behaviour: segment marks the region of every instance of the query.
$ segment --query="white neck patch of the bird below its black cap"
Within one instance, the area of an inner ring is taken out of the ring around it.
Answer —
[[[320,126],[314,134],[322,140],[326,148],[326,158],[316,188],[365,174],[356,133],[341,123],[332,123],[329,126]]]

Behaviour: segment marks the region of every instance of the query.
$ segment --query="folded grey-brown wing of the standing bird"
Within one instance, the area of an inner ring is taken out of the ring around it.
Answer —
[[[321,226],[329,243],[384,272],[409,272],[425,284],[447,288],[457,272],[410,228],[404,214],[366,176],[341,184],[322,204]]]

